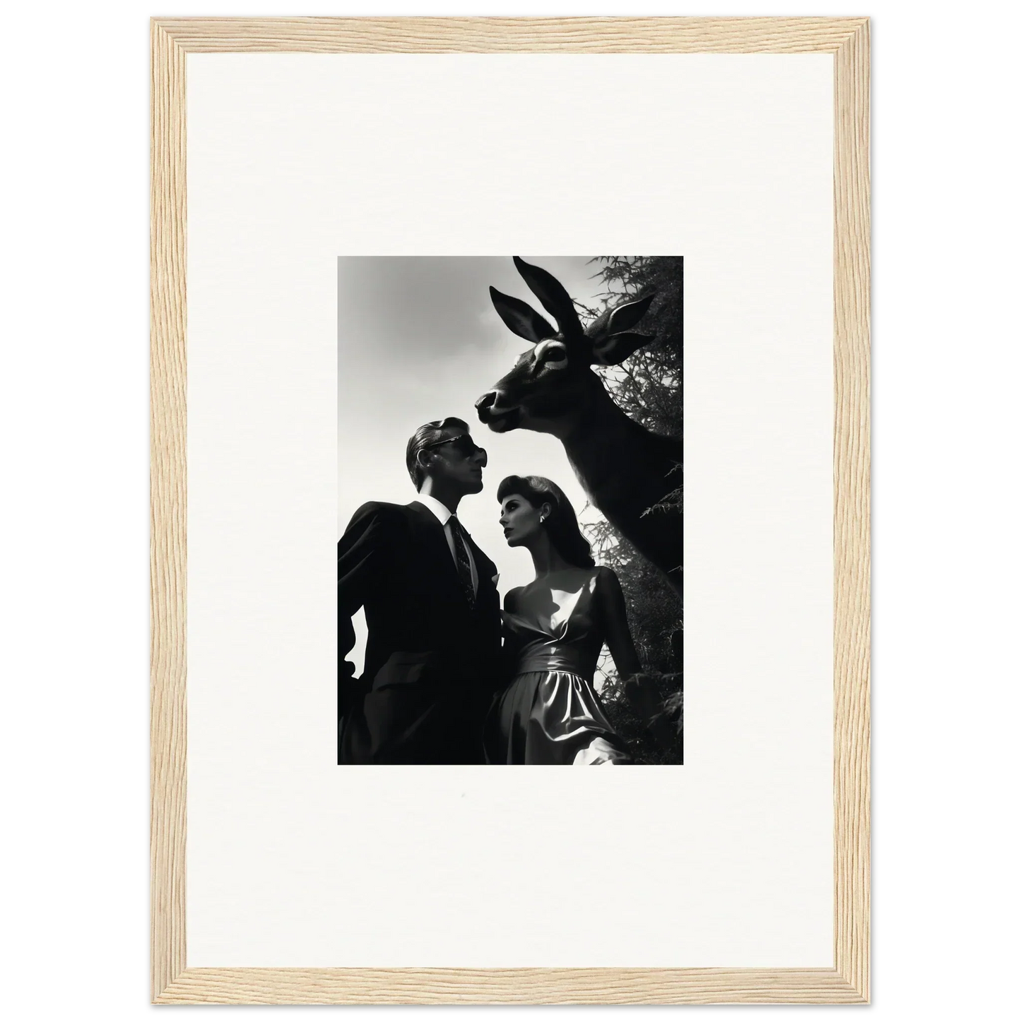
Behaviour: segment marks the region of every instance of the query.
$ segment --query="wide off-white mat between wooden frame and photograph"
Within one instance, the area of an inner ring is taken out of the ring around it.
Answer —
[[[831,964],[831,58],[187,72],[189,966]],[[338,767],[337,258],[528,252],[685,256],[687,765]]]

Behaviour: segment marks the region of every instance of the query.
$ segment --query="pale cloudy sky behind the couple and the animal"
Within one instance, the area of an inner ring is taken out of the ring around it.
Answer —
[[[552,273],[576,300],[597,303],[601,285],[588,257],[522,258]],[[509,255],[338,260],[337,536],[368,500],[415,499],[404,467],[407,439],[425,422],[456,416],[489,455],[485,489],[461,501],[458,517],[496,564],[502,594],[534,575],[528,551],[509,549],[497,524],[500,480],[544,475],[579,513],[585,496],[558,440],[524,430],[497,435],[478,420],[475,401],[530,346],[496,314],[490,285],[541,310]],[[598,514],[589,508],[583,520]],[[356,631],[360,670],[360,620]]]

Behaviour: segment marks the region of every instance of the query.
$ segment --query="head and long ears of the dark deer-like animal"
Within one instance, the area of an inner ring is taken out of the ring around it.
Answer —
[[[493,432],[531,429],[555,434],[596,392],[605,397],[592,366],[616,366],[654,339],[654,334],[630,330],[648,310],[655,295],[607,308],[583,327],[574,302],[555,277],[518,256],[514,262],[556,326],[524,301],[490,287],[500,319],[534,346],[475,406],[479,421]]]

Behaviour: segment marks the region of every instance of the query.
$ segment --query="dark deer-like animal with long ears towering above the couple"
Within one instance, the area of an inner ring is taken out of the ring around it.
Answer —
[[[630,332],[655,295],[606,309],[586,328],[555,277],[517,256],[514,261],[556,327],[524,301],[489,288],[506,326],[535,346],[475,402],[479,420],[496,433],[531,429],[555,436],[592,503],[680,592],[681,522],[649,508],[680,487],[681,441],[629,419],[591,368],[619,364],[655,339]]]

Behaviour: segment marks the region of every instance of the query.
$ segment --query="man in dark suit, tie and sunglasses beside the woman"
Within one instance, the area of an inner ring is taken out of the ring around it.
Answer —
[[[340,764],[483,763],[482,730],[500,684],[496,568],[456,518],[482,490],[486,452],[460,419],[407,442],[411,503],[366,503],[337,550]],[[366,609],[362,675],[344,657]]]

